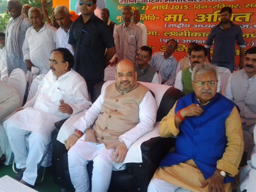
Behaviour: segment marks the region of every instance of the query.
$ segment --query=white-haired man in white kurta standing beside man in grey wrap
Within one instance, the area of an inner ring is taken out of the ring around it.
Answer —
[[[26,32],[22,47],[24,62],[28,71],[35,66],[39,69],[39,75],[46,74],[50,70],[48,60],[51,51],[56,49],[57,29],[43,22],[42,12],[38,8],[30,8],[28,15],[32,26]]]

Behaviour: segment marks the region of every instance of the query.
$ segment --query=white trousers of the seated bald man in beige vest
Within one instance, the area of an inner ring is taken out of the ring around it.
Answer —
[[[68,151],[68,169],[76,192],[89,192],[86,165],[93,160],[92,192],[107,192],[115,163],[111,162],[115,149],[104,144],[85,142],[84,136]]]

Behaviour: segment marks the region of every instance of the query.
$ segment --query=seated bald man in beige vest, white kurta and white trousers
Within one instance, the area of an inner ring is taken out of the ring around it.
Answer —
[[[72,135],[65,146],[69,150],[68,168],[76,192],[89,192],[86,164],[90,160],[94,162],[92,191],[106,192],[112,170],[122,167],[132,143],[153,129],[155,99],[136,80],[133,63],[119,62],[116,82],[102,90],[92,107],[74,124],[81,133],[80,139]]]

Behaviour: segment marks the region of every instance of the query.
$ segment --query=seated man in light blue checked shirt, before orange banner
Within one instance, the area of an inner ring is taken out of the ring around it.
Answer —
[[[156,52],[153,54],[150,65],[158,70],[162,77],[162,84],[173,86],[176,76],[176,68],[178,61],[172,55],[178,43],[174,39],[167,41],[164,52]]]

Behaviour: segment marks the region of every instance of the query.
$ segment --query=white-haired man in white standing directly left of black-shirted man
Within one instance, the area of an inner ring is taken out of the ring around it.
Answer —
[[[72,24],[71,15],[69,14],[68,8],[64,5],[56,6],[54,9],[56,22],[59,24],[56,32],[56,46],[57,48],[67,48],[73,55],[74,51],[72,46],[68,44],[69,29]]]

